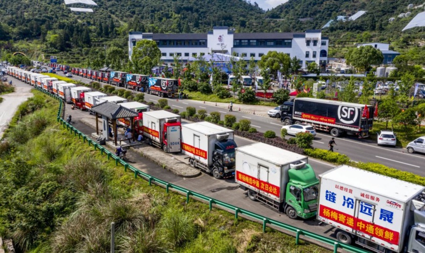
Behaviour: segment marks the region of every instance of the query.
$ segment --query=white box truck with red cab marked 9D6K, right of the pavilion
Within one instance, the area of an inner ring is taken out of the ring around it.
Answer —
[[[181,151],[181,117],[166,110],[143,113],[143,135],[166,153]]]

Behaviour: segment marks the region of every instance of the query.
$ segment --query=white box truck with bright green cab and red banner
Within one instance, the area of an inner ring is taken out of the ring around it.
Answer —
[[[264,143],[236,148],[235,182],[292,219],[316,216],[319,180],[307,156]]]

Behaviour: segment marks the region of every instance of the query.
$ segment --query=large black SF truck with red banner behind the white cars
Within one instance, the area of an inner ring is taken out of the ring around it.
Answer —
[[[367,137],[372,129],[374,107],[367,105],[368,117],[363,117],[365,105],[315,98],[296,98],[280,106],[280,121],[284,125],[305,123],[317,130],[328,131],[333,137],[343,133]],[[367,116],[367,113],[364,113]]]

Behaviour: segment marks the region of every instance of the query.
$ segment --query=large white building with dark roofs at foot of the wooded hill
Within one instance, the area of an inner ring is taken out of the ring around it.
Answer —
[[[131,59],[133,46],[139,40],[153,40],[161,50],[161,60],[172,63],[176,54],[186,61],[208,53],[236,54],[246,61],[252,57],[259,61],[269,51],[288,54],[300,59],[302,68],[306,63],[315,62],[325,67],[329,39],[320,30],[299,33],[235,33],[227,26],[213,27],[208,33],[152,34],[130,32],[128,36],[128,57]]]

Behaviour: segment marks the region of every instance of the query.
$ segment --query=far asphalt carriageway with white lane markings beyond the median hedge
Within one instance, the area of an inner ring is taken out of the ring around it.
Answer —
[[[57,74],[64,76],[63,72]],[[85,84],[91,82],[91,80],[80,76],[74,76],[72,79],[81,81]],[[101,84],[106,85],[104,83]],[[145,93],[145,100],[147,102],[156,103],[158,99],[160,99],[160,97]],[[208,112],[221,111],[220,113],[222,114],[222,119],[224,118],[224,115],[232,114],[236,116],[238,120],[249,119],[251,124],[254,125],[260,132],[273,130],[276,132],[277,136],[280,135],[282,123],[279,119],[239,112],[235,110],[237,105],[234,105],[234,112],[228,112],[228,110],[225,108],[203,104],[201,101],[176,101],[175,99],[168,99],[168,103],[171,108],[177,108],[180,111],[185,110],[185,108],[188,106],[193,106],[196,108],[196,110],[205,109]],[[329,134],[326,134],[325,132],[319,132],[313,141],[313,146],[315,148],[328,149],[328,142],[330,139],[331,136]],[[353,161],[379,163],[391,168],[409,171],[417,175],[425,176],[425,156],[422,154],[408,154],[405,148],[378,147],[375,142],[370,140],[362,140],[351,136],[336,138],[336,143],[338,145],[336,146],[338,150],[335,151],[349,156]]]

